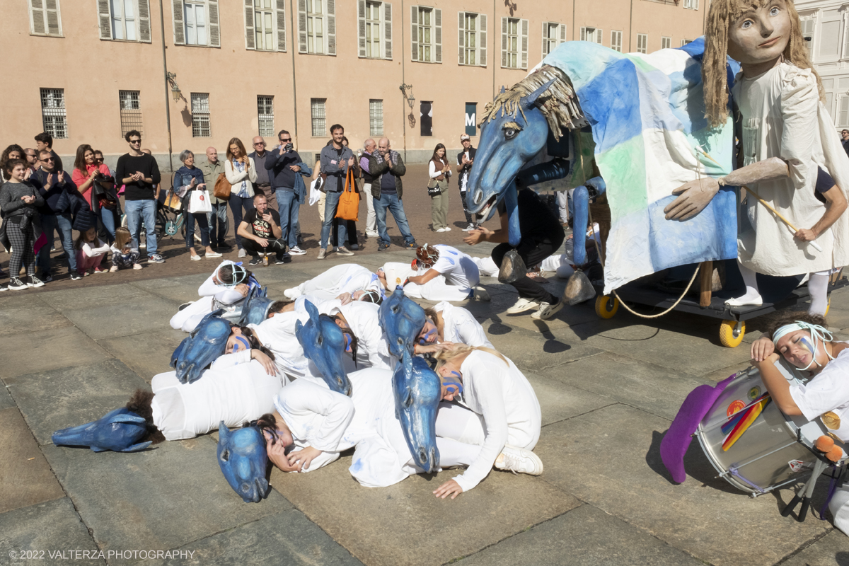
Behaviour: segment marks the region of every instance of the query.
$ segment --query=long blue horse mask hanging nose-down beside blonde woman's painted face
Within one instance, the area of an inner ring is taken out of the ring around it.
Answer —
[[[439,377],[424,358],[410,352],[404,352],[404,357],[407,359],[398,363],[392,374],[396,417],[401,422],[413,462],[425,472],[436,472],[439,468],[436,447],[436,410],[441,399]]]

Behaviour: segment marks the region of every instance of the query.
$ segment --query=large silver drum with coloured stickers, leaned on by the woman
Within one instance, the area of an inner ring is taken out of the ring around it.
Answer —
[[[776,364],[785,377],[786,368]],[[702,450],[719,476],[739,490],[759,496],[811,474],[817,456],[813,442],[828,429],[817,419],[787,417],[774,401],[763,409],[728,451],[722,450],[727,434],[722,425],[767,392],[754,367],[737,374],[699,423],[696,434]],[[846,453],[844,453],[844,459]]]

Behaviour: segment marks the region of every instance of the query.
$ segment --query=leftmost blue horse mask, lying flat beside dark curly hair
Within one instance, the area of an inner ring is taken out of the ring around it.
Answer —
[[[147,434],[143,417],[131,412],[126,406],[108,412],[92,423],[60,429],[53,433],[56,446],[88,446],[95,452],[138,452],[151,442],[138,442]]]

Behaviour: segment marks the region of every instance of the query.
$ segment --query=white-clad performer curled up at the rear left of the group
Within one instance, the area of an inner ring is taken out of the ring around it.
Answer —
[[[171,328],[192,332],[198,323],[211,311],[223,309],[224,318],[237,320],[242,301],[248,296],[250,289],[259,287],[260,283],[242,266],[241,262],[222,261],[215,272],[200,285],[198,294],[201,299],[180,306],[171,317]]]

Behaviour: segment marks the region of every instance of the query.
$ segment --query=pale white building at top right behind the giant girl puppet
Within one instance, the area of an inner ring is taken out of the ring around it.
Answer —
[[[811,62],[823,81],[825,108],[839,130],[849,128],[849,2],[796,2]]]

